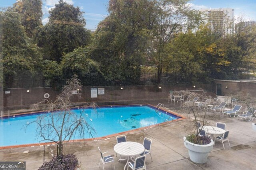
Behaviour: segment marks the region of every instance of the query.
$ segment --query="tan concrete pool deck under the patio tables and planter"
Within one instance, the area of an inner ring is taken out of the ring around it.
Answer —
[[[157,103],[152,104],[157,105]],[[167,109],[176,111],[173,108],[178,105],[165,104],[165,106],[168,106]],[[186,120],[145,128],[125,135],[127,141],[138,143],[143,143],[144,137],[153,140],[151,147],[153,162],[150,158],[146,159],[148,170],[256,169],[256,131],[252,130],[252,121],[246,122],[238,120],[237,117],[224,117],[219,113],[210,114],[212,123],[216,123],[216,121],[226,123],[226,130],[230,130],[230,147],[226,141],[224,142],[225,149],[223,149],[222,143],[217,141],[205,164],[196,164],[189,159],[188,150],[183,143],[183,137],[188,133],[184,128],[184,125],[188,123]],[[116,145],[116,137],[110,137],[99,141],[68,143],[64,147],[64,152],[77,155],[81,170],[102,170],[102,164],[98,168],[100,152],[97,147],[99,146],[102,152],[108,151],[114,156],[116,170],[122,170],[126,162],[118,162],[119,156],[115,156],[114,145]],[[2,149],[0,150],[0,161],[26,161],[26,169],[34,170],[38,169],[44,160],[50,160],[52,154],[56,154],[56,145]],[[104,169],[112,170],[114,166],[111,163],[106,164]]]

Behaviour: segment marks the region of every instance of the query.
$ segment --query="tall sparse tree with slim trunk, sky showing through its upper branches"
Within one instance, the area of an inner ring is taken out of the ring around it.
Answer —
[[[174,35],[193,29],[202,20],[200,12],[187,5],[188,0],[159,0],[158,27],[155,31],[154,63],[158,66],[158,82],[163,72],[163,64],[168,58],[165,51],[168,41]]]

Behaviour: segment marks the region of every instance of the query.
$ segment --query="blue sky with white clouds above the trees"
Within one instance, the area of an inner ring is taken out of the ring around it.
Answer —
[[[68,4],[80,7],[85,12],[86,28],[96,29],[98,23],[108,15],[109,0],[64,0]],[[16,0],[0,0],[0,7],[12,6]],[[48,22],[49,10],[54,8],[58,0],[43,0],[43,24]],[[235,18],[243,16],[245,20],[256,20],[256,0],[191,0],[188,2],[191,8],[232,8]]]

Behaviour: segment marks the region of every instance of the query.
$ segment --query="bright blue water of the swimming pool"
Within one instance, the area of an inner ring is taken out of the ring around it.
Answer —
[[[79,114],[79,109],[72,110]],[[48,113],[46,113],[48,114]],[[148,106],[133,106],[133,107],[108,107],[85,109],[84,118],[94,127],[96,133],[93,137],[104,137],[115,133],[147,127],[158,123],[163,123],[165,119],[170,117],[170,113],[166,111],[155,112],[155,109]],[[172,119],[177,119],[172,115]],[[39,143],[42,139],[36,139],[36,124],[30,124],[26,131],[26,125],[37,119],[38,115],[28,115],[23,117],[15,117],[10,119],[2,119],[0,124],[0,147],[10,145],[24,145]],[[92,121],[90,121],[92,119]],[[172,120],[169,119],[169,120]],[[89,133],[85,138],[92,138]],[[72,140],[78,137],[72,137]],[[44,141],[48,142],[48,141]]]

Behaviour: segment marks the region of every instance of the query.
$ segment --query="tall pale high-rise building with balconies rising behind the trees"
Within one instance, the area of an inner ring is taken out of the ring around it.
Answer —
[[[234,33],[234,9],[200,9],[203,18],[213,33],[221,36]]]

